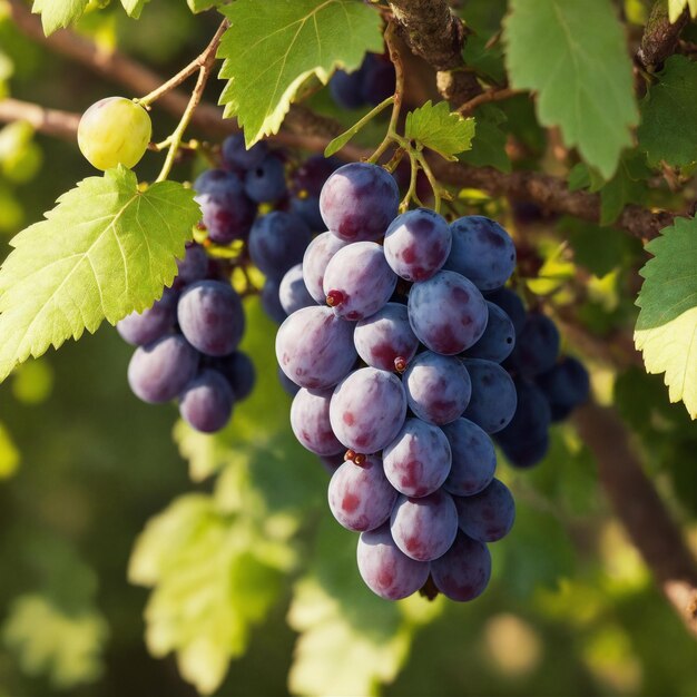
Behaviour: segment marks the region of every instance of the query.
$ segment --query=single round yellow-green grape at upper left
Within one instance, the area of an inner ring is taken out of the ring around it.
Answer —
[[[148,112],[126,97],[95,102],[80,119],[80,151],[97,169],[134,167],[144,156],[153,125]]]

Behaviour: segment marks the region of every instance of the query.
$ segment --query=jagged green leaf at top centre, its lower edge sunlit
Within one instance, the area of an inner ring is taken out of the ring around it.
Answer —
[[[225,116],[236,116],[247,147],[278,131],[298,88],[315,75],[355,70],[383,50],[380,14],[354,0],[237,0],[220,11],[230,27],[218,57]]]

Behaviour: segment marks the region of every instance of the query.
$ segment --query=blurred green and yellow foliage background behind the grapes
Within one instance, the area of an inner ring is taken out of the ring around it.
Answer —
[[[485,30],[504,3],[471,9]],[[184,2],[153,0],[139,22],[107,8],[80,31],[170,75],[215,24]],[[0,2],[0,95],[3,79],[17,98],[71,110],[122,92],[28,41]],[[171,125],[159,114],[155,122],[163,134]],[[139,175],[156,167],[149,154]],[[92,174],[73,144],[0,129],[0,258],[14,233]],[[468,195],[514,233],[505,205]],[[568,263],[540,238],[563,277]],[[583,308],[598,326],[634,312],[613,273],[593,277]],[[247,315],[243,347],[258,386],[216,439],[130,394],[131,350],[109,326],[0,386],[0,696],[187,696],[190,683],[215,689],[228,664],[219,695],[697,695],[697,644],[613,519],[571,425],[556,429],[534,472],[501,467],[518,520],[493,548],[482,598],[373,597],[355,536],[326,509],[326,473],[289,431],[275,326],[254,298]],[[684,408],[668,404],[658,377],[590,369],[596,396],[615,395],[697,548],[697,436]]]

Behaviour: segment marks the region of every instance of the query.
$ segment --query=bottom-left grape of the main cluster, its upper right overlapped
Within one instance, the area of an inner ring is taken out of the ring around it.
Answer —
[[[385,600],[401,600],[426,582],[430,565],[410,559],[394,543],[390,527],[362,532],[356,553],[365,585]]]

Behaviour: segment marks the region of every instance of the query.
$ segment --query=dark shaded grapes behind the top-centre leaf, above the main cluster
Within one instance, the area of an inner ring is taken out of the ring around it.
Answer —
[[[375,107],[394,94],[394,66],[387,56],[366,53],[354,72],[337,70],[330,80],[332,98],[342,109]]]

